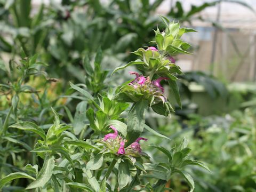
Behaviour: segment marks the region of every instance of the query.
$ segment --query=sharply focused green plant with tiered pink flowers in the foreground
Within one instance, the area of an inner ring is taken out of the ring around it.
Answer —
[[[13,179],[27,178],[31,182],[26,189],[32,191],[167,191],[172,190],[166,185],[167,181],[179,173],[187,181],[190,191],[194,190],[194,180],[184,167],[207,167],[202,162],[189,159],[190,149],[186,139],[171,150],[150,145],[166,155],[162,162],[152,161],[141,146],[142,142],[150,142],[143,138],[143,131],[169,139],[145,124],[145,113],[151,108],[157,114],[171,115],[173,108],[161,85],[163,82],[170,85],[170,90],[181,105],[175,74],[182,71],[175,65],[173,57],[178,53],[188,53],[190,45],[183,42],[181,36],[195,31],[181,28],[179,23],[170,22],[164,17],[162,19],[166,28],[155,31],[156,47],[139,48],[133,53],[140,59],[114,70],[113,74],[135,65],[138,71],[130,72],[133,76],[131,81],[116,87],[115,91],[93,96],[90,90],[79,87],[81,84],[70,83],[84,96],[78,104],[86,108],[86,126],[83,129],[61,123],[53,108],[55,120],[48,129],[23,121],[9,127],[37,134],[31,153],[36,153],[40,161],[44,161],[39,170],[38,165],[28,164],[22,171],[6,175],[0,180],[0,188],[5,186],[7,189],[9,181]],[[87,57],[84,60],[89,78],[83,86],[87,89],[104,87],[102,82],[106,72],[101,71],[101,59],[99,51],[94,66]]]

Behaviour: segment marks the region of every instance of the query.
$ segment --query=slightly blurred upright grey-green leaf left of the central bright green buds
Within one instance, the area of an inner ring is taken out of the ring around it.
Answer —
[[[76,106],[76,113],[73,121],[74,133],[79,134],[85,127],[84,120],[86,119],[87,102],[81,101]]]

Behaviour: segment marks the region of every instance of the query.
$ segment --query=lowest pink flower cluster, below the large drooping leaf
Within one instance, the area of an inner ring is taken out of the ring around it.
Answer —
[[[125,146],[125,139],[118,135],[118,131],[114,126],[110,126],[114,130],[114,133],[108,133],[103,138],[103,141],[107,148],[114,151],[117,155],[130,155],[130,156],[140,156],[142,150],[140,148],[140,140],[147,141],[145,138],[138,138],[130,146]]]

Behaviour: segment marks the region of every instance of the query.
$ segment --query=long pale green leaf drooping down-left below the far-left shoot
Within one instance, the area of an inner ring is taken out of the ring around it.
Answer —
[[[26,189],[33,189],[43,187],[52,177],[54,167],[54,156],[46,156],[44,165],[39,171],[35,181],[31,182]]]

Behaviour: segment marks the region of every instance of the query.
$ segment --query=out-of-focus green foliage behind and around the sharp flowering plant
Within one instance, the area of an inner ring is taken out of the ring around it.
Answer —
[[[146,42],[154,38],[153,28],[164,27],[156,13],[163,2],[62,0],[35,6],[30,0],[0,0],[0,125],[5,127],[23,119],[47,129],[54,118],[50,108],[54,107],[61,121],[72,123],[80,119],[74,126],[78,126],[77,129],[85,126],[86,105],[80,102],[83,98],[70,89],[69,81],[81,83],[92,95],[97,95],[131,78],[124,73],[115,75],[114,83],[109,81],[115,67],[136,59],[130,52],[154,45]],[[229,2],[253,11],[244,2]],[[177,1],[166,16],[188,26],[199,18],[222,28],[216,21],[198,16],[207,7],[220,3],[206,2],[185,11],[182,1]],[[86,63],[94,63],[97,51],[103,55],[101,67],[89,69]],[[195,191],[256,191],[256,90],[253,84],[223,83],[202,71],[189,71],[177,77],[182,109],[175,106],[175,115],[167,120],[153,114],[147,116],[147,124],[172,141],[147,135],[149,141],[170,149],[183,137],[189,140],[192,157],[206,162],[212,171],[188,170],[196,180]],[[4,121],[6,116],[11,116],[9,122]],[[9,141],[19,138],[25,142],[28,137],[13,134],[9,135]],[[35,161],[29,152],[22,153],[19,146],[23,143],[16,144],[15,149],[0,148],[1,159],[9,158],[7,167],[1,164],[0,174],[20,170]],[[147,153],[153,160],[164,159],[157,150]],[[170,180],[167,187],[175,191],[188,190],[186,183],[177,177]]]

